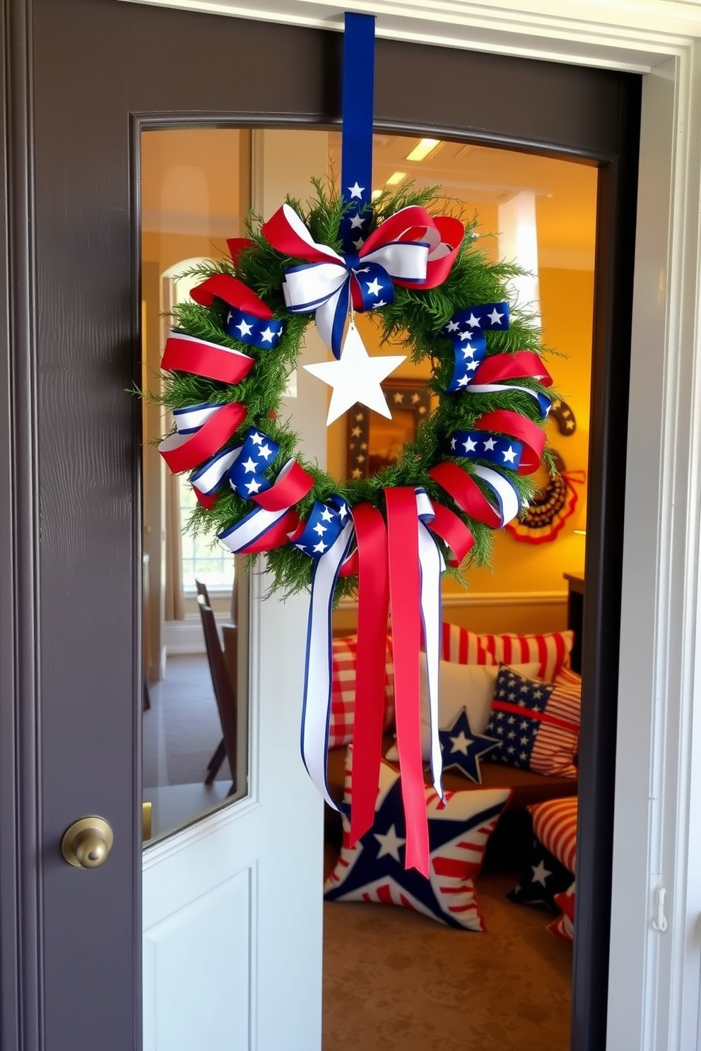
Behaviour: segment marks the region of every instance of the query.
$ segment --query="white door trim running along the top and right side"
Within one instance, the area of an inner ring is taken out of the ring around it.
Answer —
[[[348,6],[150,2],[327,28],[339,26]],[[696,1051],[701,843],[689,831],[701,827],[701,720],[694,719],[701,641],[699,6],[674,0],[351,6],[376,13],[378,35],[394,39],[654,70],[642,109],[607,1047]],[[664,934],[652,925],[659,885],[668,890]]]

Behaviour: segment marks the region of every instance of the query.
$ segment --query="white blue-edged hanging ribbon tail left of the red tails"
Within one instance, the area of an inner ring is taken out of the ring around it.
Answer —
[[[327,777],[331,720],[331,612],[338,571],[352,541],[353,524],[348,522],[326,554],[314,562],[307,625],[302,759],[317,790],[334,810],[342,810],[342,806],[331,795]]]

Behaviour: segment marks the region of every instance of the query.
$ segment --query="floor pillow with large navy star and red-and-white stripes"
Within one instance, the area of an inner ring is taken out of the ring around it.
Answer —
[[[345,802],[350,803],[352,745],[346,759]],[[328,901],[399,905],[458,930],[484,930],[474,879],[487,841],[509,802],[509,788],[447,791],[441,803],[425,788],[429,818],[430,874],[405,868],[406,825],[399,775],[382,764],[372,828],[350,845],[344,818],[344,842],[324,887]]]

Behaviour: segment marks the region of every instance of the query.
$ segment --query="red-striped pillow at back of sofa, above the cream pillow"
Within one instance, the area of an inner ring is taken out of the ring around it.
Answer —
[[[476,635],[459,624],[442,625],[442,659],[458,664],[530,664],[538,661],[538,678],[553,682],[570,664],[573,632],[547,635]]]

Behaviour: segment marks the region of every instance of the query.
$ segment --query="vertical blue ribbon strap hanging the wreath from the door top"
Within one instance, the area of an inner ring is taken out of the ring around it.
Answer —
[[[346,12],[341,187],[344,200],[352,207],[338,230],[346,252],[357,251],[372,218],[374,79],[375,17]]]

